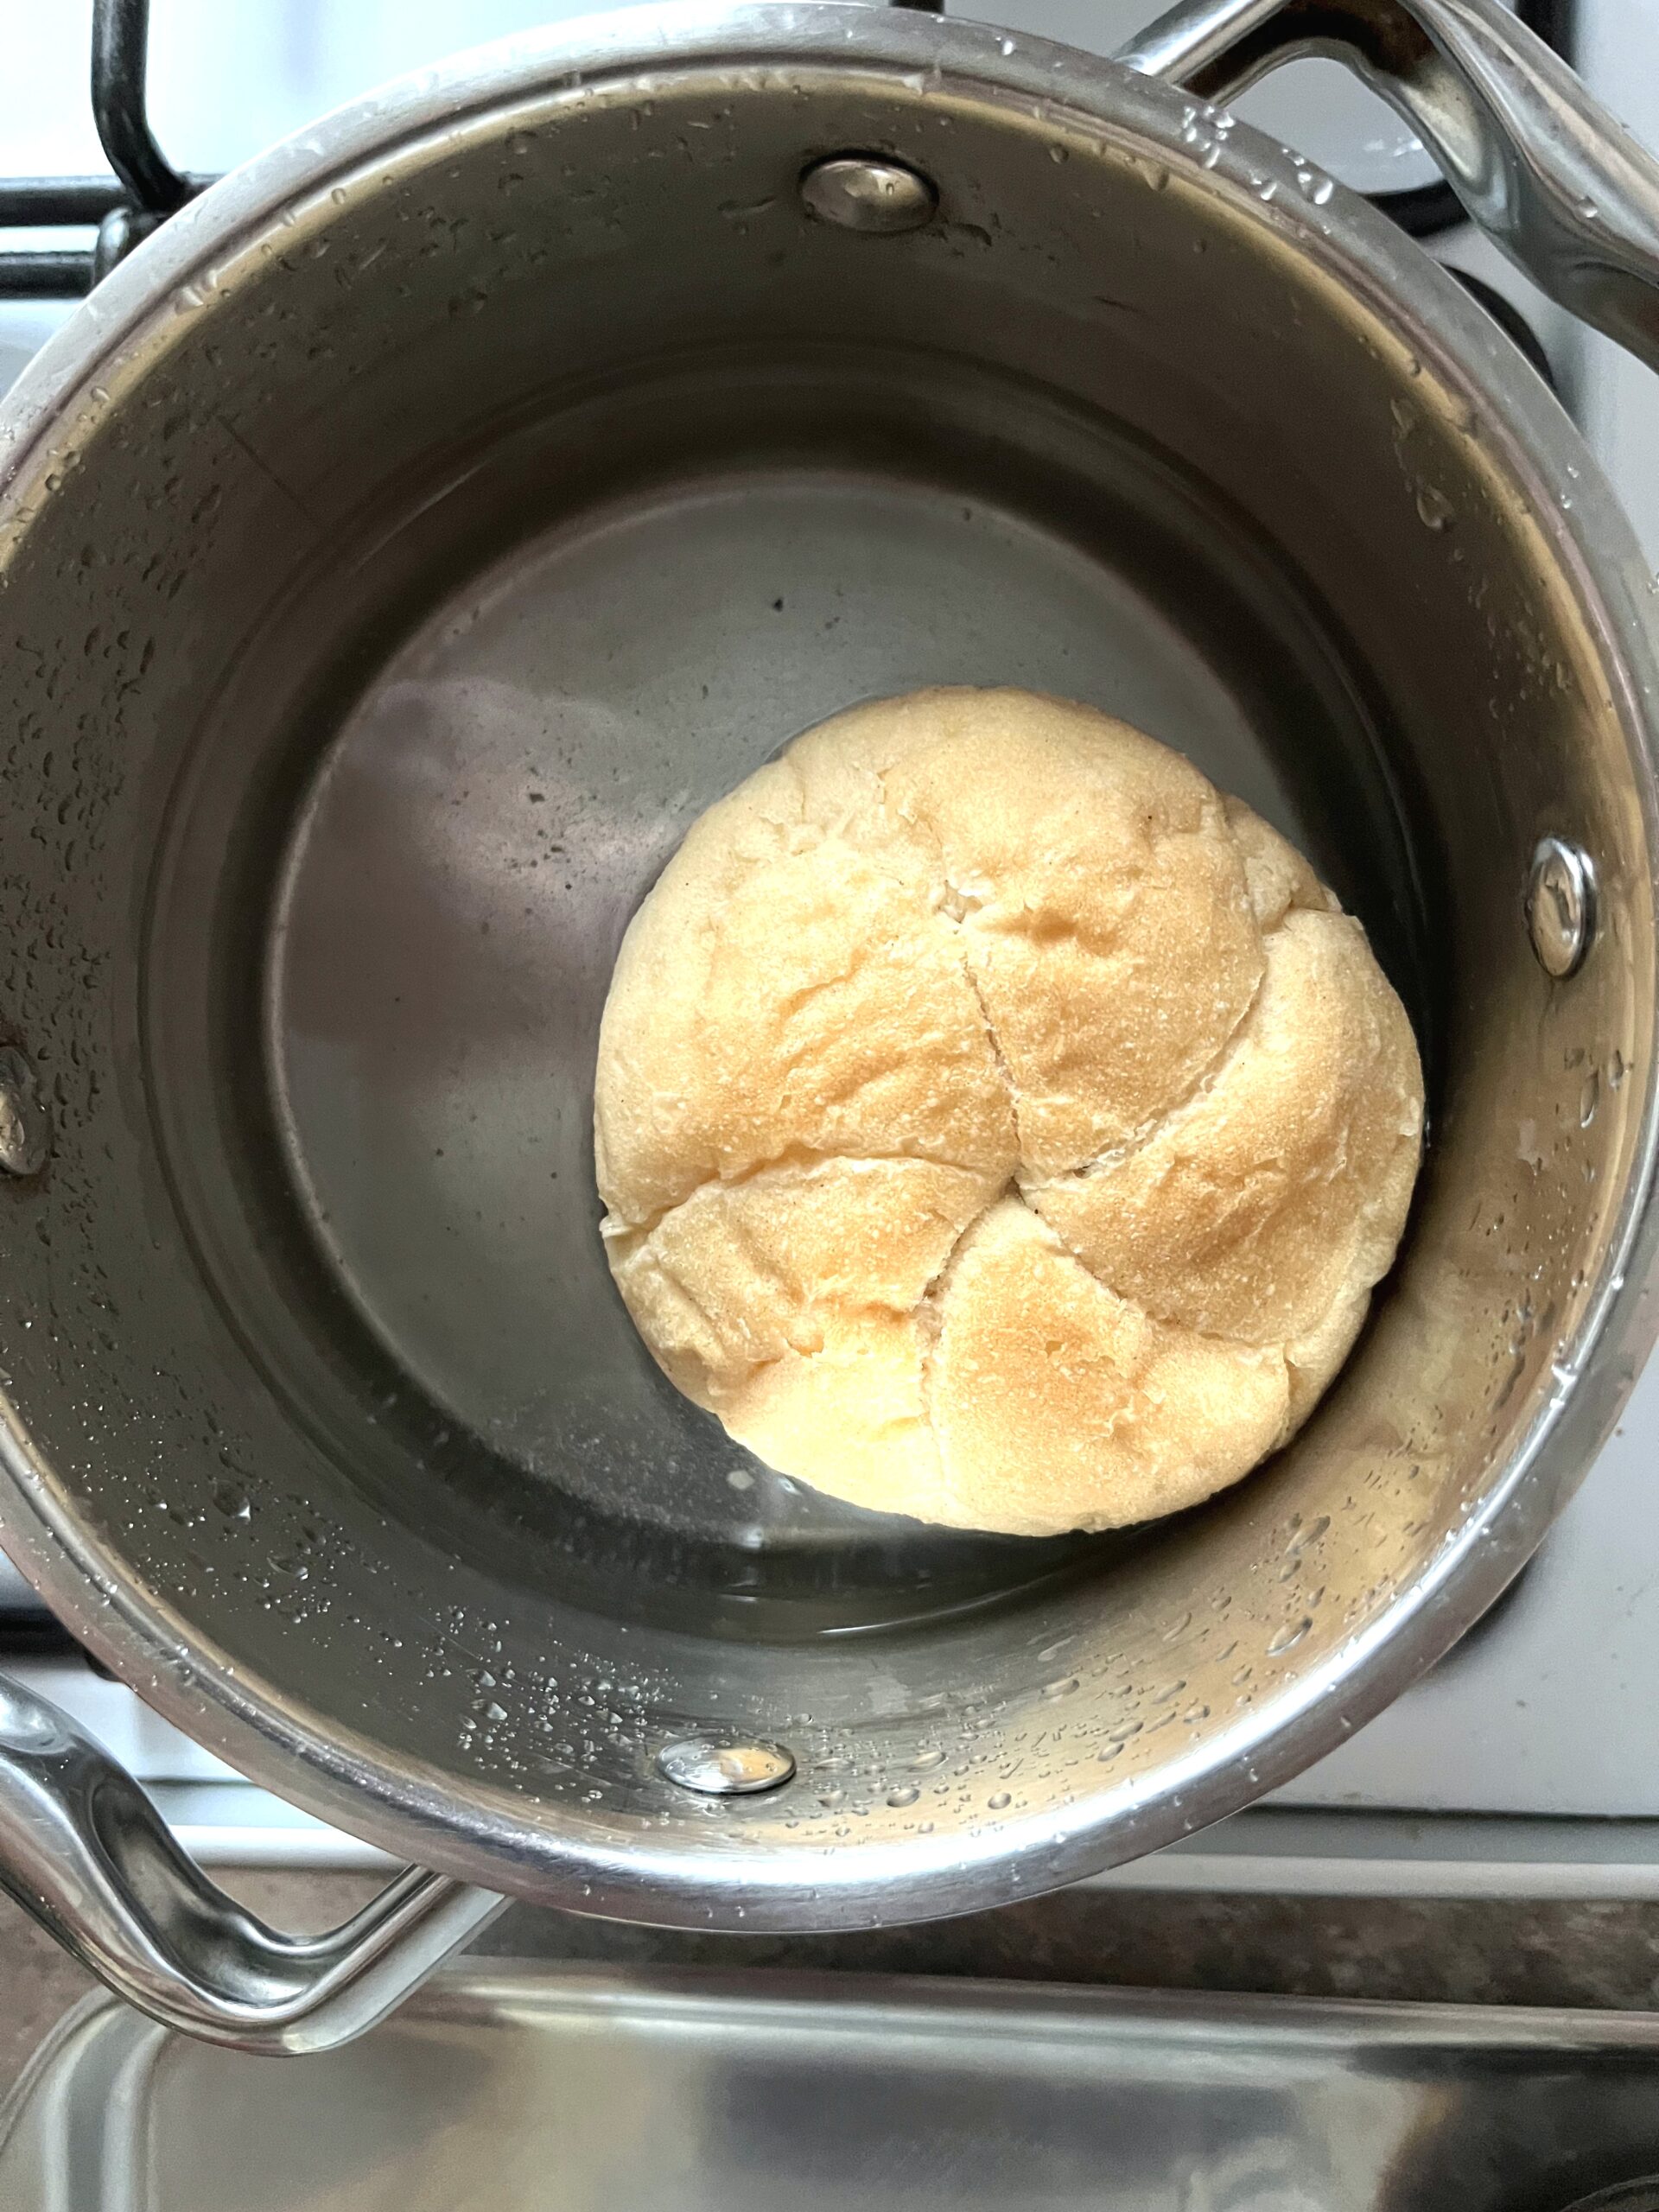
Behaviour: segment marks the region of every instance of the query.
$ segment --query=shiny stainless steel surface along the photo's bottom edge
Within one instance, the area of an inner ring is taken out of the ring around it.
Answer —
[[[75,2212],[1557,2212],[1659,2170],[1659,2022],[832,1975],[440,1975],[303,2066],[100,2002],[0,2197]]]

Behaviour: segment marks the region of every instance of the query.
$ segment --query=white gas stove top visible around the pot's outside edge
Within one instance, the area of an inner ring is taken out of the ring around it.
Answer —
[[[1659,4],[1517,0],[1597,95],[1659,146]],[[949,0],[949,11],[958,0]],[[155,0],[148,113],[179,170],[210,175],[396,71],[557,15],[582,0]],[[1157,0],[973,0],[1110,53]],[[131,0],[115,13],[128,18]],[[86,100],[91,0],[7,31],[0,170],[106,170]],[[1577,416],[1659,568],[1659,378],[1562,316],[1458,219],[1431,161],[1329,62],[1298,62],[1239,113],[1376,197],[1533,352]],[[35,188],[40,190],[40,188]],[[106,201],[113,195],[106,195]],[[0,184],[0,383],[91,274],[100,206]],[[27,259],[42,257],[49,259]],[[49,265],[51,261],[51,265]],[[1484,288],[1484,290],[1482,290]],[[11,294],[11,296],[4,296]],[[18,296],[27,294],[27,296]],[[0,1663],[73,1710],[157,1796],[204,1860],[374,1863],[376,1854],[234,1776],[100,1677],[0,1557]],[[1146,1887],[1659,1898],[1659,1363],[1562,1522],[1491,1615],[1340,1752],[1267,1803],[1102,1880]]]

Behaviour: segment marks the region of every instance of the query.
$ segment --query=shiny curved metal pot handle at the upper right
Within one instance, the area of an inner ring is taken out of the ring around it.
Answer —
[[[1391,102],[1486,237],[1659,369],[1659,161],[1498,0],[1179,0],[1117,60],[1228,100],[1305,53]]]

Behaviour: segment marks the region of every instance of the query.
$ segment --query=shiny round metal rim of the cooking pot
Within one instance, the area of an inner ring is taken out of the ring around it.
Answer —
[[[1641,564],[1595,460],[1522,356],[1387,217],[1336,186],[1314,204],[1294,188],[1294,157],[1252,128],[1214,153],[1183,139],[1194,102],[1035,38],[863,0],[703,4],[670,0],[502,40],[456,55],[334,111],[259,153],[170,217],[46,343],[0,405],[0,562],[27,529],[49,467],[64,467],[62,425],[108,400],[93,387],[142,369],[168,343],[179,294],[230,252],[248,252],[281,210],[312,199],[392,146],[445,142],[500,111],[553,108],[684,80],[714,69],[918,71],[940,91],[973,95],[1124,148],[1223,197],[1290,239],[1402,345],[1462,385],[1491,422],[1489,445],[1522,484],[1537,526],[1571,580],[1639,785],[1659,911],[1659,675],[1639,599]],[[1208,166],[1206,166],[1208,164]],[[1283,179],[1270,204],[1263,175]],[[199,303],[199,294],[195,301]],[[73,429],[71,429],[73,442]],[[1571,509],[1562,493],[1571,482]],[[1535,1413],[1478,1513],[1360,1637],[1294,1679],[1201,1754],[1170,1761],[1135,1798],[1033,1814],[962,1838],[918,1836],[874,1851],[659,1847],[644,1829],[549,1832],[507,1792],[440,1783],[345,1728],[325,1728],[274,1686],[215,1663],[190,1628],[157,1601],[53,1493],[29,1442],[0,1436],[0,1504],[15,1564],[64,1624],[166,1719],[239,1772],[398,1856],[467,1880],[588,1913],[697,1929],[832,1929],[927,1918],[1031,1896],[1152,1851],[1290,1781],[1431,1666],[1498,1597],[1577,1486],[1659,1332],[1644,1276],[1659,1245],[1652,1206],[1659,1155],[1659,1071],[1644,1071],[1639,1139],[1601,1279],[1562,1349],[1573,1380]]]

